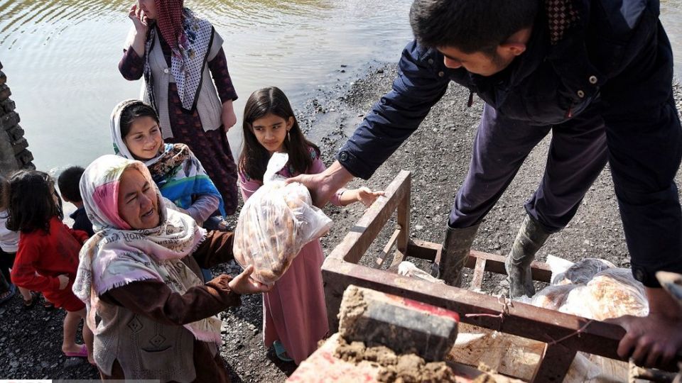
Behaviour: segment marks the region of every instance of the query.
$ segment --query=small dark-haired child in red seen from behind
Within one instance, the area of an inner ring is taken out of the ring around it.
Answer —
[[[85,304],[72,292],[78,253],[88,238],[62,223],[61,199],[47,173],[20,170],[9,179],[7,228],[20,232],[11,272],[13,284],[40,291],[55,307],[65,309],[62,351],[92,362],[92,331],[83,326],[86,345],[75,343]]]

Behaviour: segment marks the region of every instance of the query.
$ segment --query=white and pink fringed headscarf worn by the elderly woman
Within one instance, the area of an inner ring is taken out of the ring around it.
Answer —
[[[135,170],[148,180],[158,198],[159,225],[136,230],[118,212],[121,176]],[[99,296],[131,282],[156,280],[173,292],[184,294],[202,284],[189,267],[177,260],[190,255],[206,231],[190,217],[166,209],[144,164],[117,155],[104,155],[85,169],[80,179],[85,211],[96,233],[80,250],[80,263],[73,292],[87,306],[87,324],[97,334],[94,316]],[[105,326],[105,325],[103,325]],[[210,317],[185,325],[195,338],[220,343],[220,320]]]

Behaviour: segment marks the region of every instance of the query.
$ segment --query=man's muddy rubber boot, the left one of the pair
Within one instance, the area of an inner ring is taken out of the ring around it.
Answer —
[[[478,226],[480,224],[469,228],[445,226],[445,240],[443,240],[443,252],[440,254],[438,274],[446,284],[455,287],[460,287],[462,284],[462,268],[469,257]]]

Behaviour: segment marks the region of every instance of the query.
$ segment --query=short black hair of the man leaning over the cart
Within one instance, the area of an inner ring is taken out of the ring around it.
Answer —
[[[498,45],[533,25],[539,0],[415,0],[410,24],[418,43],[492,55]]]

